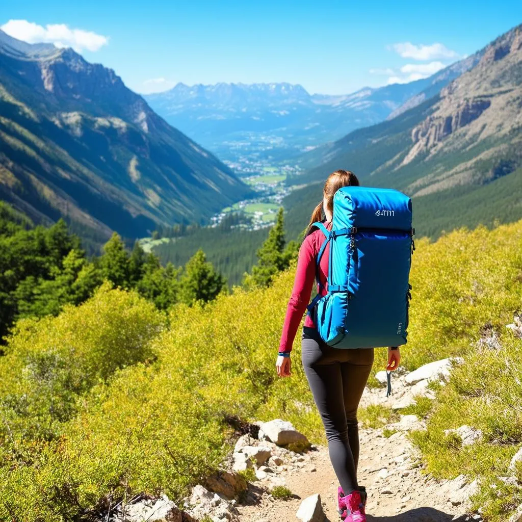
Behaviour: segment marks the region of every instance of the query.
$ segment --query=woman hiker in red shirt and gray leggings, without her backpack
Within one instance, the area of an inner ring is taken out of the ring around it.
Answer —
[[[310,219],[310,224],[299,250],[292,295],[286,317],[276,362],[280,377],[290,375],[290,351],[301,323],[301,318],[310,301],[316,277],[316,258],[324,235],[312,227],[315,221],[324,222],[331,230],[334,194],[345,186],[359,185],[353,172],[338,170],[328,176],[323,189],[323,201],[319,203]],[[318,267],[322,285],[318,291],[327,292],[328,254],[326,246]],[[304,321],[301,360],[315,404],[324,424],[328,440],[331,464],[340,483],[338,508],[341,519],[346,522],[365,522],[366,491],[357,481],[359,461],[359,429],[357,409],[373,364],[373,348],[336,349],[328,346],[318,335],[310,314]],[[400,351],[388,348],[387,370],[396,370]]]

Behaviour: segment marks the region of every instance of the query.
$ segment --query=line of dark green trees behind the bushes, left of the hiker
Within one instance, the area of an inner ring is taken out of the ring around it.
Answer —
[[[280,209],[275,226],[257,251],[257,265],[244,274],[244,286],[269,286],[296,251],[295,242],[287,245],[284,240]],[[145,252],[138,242],[127,250],[114,233],[101,255],[88,257],[63,220],[48,228],[35,227],[0,202],[0,339],[17,319],[56,315],[66,304],[87,300],[103,281],[135,289],[160,310],[176,303],[208,302],[229,291],[226,278],[201,248],[183,267],[170,262],[162,266],[160,258]]]

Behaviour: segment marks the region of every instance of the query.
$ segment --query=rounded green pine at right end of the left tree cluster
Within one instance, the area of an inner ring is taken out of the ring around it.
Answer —
[[[180,301],[192,305],[195,301],[211,301],[226,286],[226,280],[217,272],[203,250],[188,260],[180,279]]]

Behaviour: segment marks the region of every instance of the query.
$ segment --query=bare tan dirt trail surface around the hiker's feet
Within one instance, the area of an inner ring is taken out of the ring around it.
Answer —
[[[404,419],[402,428],[412,416]],[[395,428],[398,426],[395,425]],[[411,427],[411,426],[410,426]],[[479,515],[467,516],[466,486],[458,494],[455,481],[437,482],[421,472],[421,468],[407,440],[407,430],[389,438],[383,430],[363,429],[359,482],[366,486],[366,506],[369,522],[448,522],[449,520],[481,520]],[[301,461],[299,461],[301,460]],[[328,450],[315,450],[285,462],[287,470],[278,470],[270,479],[254,482],[249,505],[236,506],[242,522],[289,522],[297,520],[295,513],[305,497],[321,495],[327,521],[339,520],[337,513],[337,479],[331,467]],[[383,471],[385,469],[386,471]],[[294,494],[288,501],[272,499],[267,488],[274,483],[286,485]],[[462,482],[464,485],[464,482]],[[264,493],[263,493],[264,490]],[[457,490],[457,494],[455,491]],[[449,502],[449,497],[452,502]],[[457,504],[457,505],[454,505]]]

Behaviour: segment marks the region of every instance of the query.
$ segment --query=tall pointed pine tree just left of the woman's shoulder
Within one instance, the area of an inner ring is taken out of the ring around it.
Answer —
[[[277,213],[276,224],[270,229],[267,240],[257,251],[259,259],[257,265],[252,267],[252,274],[245,275],[243,284],[246,287],[268,287],[274,276],[281,270],[290,266],[290,260],[298,251],[298,244],[291,241],[284,248],[284,217],[282,207]]]

